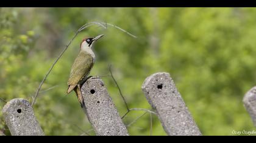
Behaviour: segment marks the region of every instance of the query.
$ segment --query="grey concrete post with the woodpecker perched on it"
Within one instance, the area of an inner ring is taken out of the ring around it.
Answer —
[[[98,78],[88,79],[81,88],[85,113],[98,136],[127,136],[124,125],[104,82]]]

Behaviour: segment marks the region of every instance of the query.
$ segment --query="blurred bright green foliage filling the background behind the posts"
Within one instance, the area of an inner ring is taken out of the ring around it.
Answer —
[[[152,73],[166,71],[203,135],[254,130],[242,99],[256,81],[255,13],[256,8],[0,8],[0,98],[31,101],[74,32],[87,22],[102,21],[138,38],[113,27],[93,26],[79,33],[43,84],[34,106],[46,135],[81,135],[90,130],[74,93],[66,96],[66,82],[80,41],[99,34],[105,36],[94,45],[96,64],[91,75],[108,74],[112,64],[130,108],[151,108],[141,84]],[[102,79],[124,115],[126,107],[113,80]],[[4,102],[0,105],[1,110]],[[124,122],[142,114],[131,111]],[[4,129],[1,114],[0,118]],[[166,135],[156,116],[152,123],[152,135]],[[150,115],[128,130],[130,135],[150,135]]]

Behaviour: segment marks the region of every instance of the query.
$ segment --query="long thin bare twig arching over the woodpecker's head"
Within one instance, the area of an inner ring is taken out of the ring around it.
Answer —
[[[37,88],[37,91],[36,91],[36,93],[35,93],[35,95],[34,95],[34,99],[33,99],[33,101],[32,101],[31,107],[34,106],[35,100],[37,99],[37,96],[38,96],[38,94],[39,94],[39,91],[40,91],[40,89],[41,89],[43,83],[46,81],[46,78],[48,78],[49,74],[51,73],[52,69],[54,68],[54,65],[57,64],[57,62],[59,61],[59,59],[60,59],[60,58],[62,57],[62,55],[66,52],[66,50],[68,49],[68,47],[69,47],[69,45],[71,44],[71,42],[74,41],[74,38],[76,38],[76,36],[78,35],[79,32],[81,32],[81,31],[84,30],[85,28],[90,27],[90,26],[95,25],[95,24],[100,25],[100,26],[103,27],[103,28],[107,28],[104,24],[107,25],[108,23],[105,23],[105,22],[88,22],[87,24],[82,25],[82,27],[80,27],[80,28],[77,30],[77,32],[75,33],[75,35],[73,36],[73,38],[71,39],[71,41],[68,42],[68,45],[66,45],[66,47],[63,49],[63,51],[60,53],[60,55],[57,57],[57,59],[55,59],[54,63],[53,63],[53,64],[51,65],[51,67],[49,68],[49,70],[48,70],[48,72],[46,73],[46,75],[44,76],[43,80],[40,82],[40,85],[39,85],[39,87]],[[112,25],[113,27],[118,28],[119,30],[121,30],[121,31],[123,31],[123,32],[125,32],[125,33],[127,33],[128,35],[133,36],[134,38],[136,38],[136,36],[130,34],[129,32],[126,32],[126,30],[123,30],[122,28],[117,27],[116,25],[113,25],[113,24],[108,24],[108,25]]]

